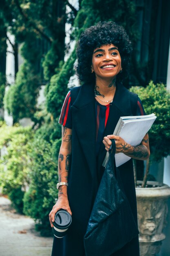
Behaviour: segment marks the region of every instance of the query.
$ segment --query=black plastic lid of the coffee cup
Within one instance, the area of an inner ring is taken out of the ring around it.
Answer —
[[[66,229],[71,224],[71,215],[64,209],[60,209],[55,213],[53,225],[58,229]]]

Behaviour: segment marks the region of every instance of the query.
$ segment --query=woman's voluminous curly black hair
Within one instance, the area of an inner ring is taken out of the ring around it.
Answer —
[[[77,43],[76,70],[81,81],[95,83],[95,73],[91,73],[93,51],[95,48],[108,44],[117,46],[121,56],[122,72],[117,75],[117,79],[121,81],[127,77],[132,43],[122,26],[113,21],[104,21],[86,29]]]

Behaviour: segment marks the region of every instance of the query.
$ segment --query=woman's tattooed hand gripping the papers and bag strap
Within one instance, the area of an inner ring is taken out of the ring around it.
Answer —
[[[124,139],[116,135],[108,135],[104,137],[103,143],[105,145],[105,149],[108,151],[110,146],[112,145],[112,141],[110,139],[115,139],[116,144],[116,154],[117,153],[130,153],[133,149],[130,144],[128,144]]]

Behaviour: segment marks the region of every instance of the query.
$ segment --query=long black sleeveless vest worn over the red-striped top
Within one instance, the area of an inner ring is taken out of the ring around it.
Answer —
[[[120,116],[136,115],[137,94],[129,92],[119,83],[110,106],[104,136],[113,134]],[[99,155],[95,155],[96,115],[94,85],[84,84],[71,89],[72,159],[68,177],[68,202],[72,211],[72,225],[68,235],[55,241],[60,252],[53,256],[85,256],[84,234],[91,215],[97,189],[102,178],[102,162],[106,155],[102,143]],[[137,223],[137,204],[132,159],[119,166],[119,172],[133,216]],[[53,245],[54,247],[54,245]],[[134,252],[133,252],[134,251]],[[138,256],[138,238],[122,248],[114,256]],[[88,255],[92,256],[92,255]]]

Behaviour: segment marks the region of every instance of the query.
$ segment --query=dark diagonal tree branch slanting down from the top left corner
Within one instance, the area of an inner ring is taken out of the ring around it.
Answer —
[[[18,8],[18,10],[20,11],[20,14],[24,17],[24,19],[26,20],[26,22],[30,22],[31,26],[38,31],[38,33],[43,36],[47,41],[49,41],[50,43],[52,43],[53,39],[48,37],[46,34],[44,34],[44,32],[42,31],[42,29],[40,29],[39,27],[37,27],[35,25],[34,20],[30,19],[28,15],[26,15],[26,13],[23,12],[22,8],[20,7],[20,3],[18,0],[14,0],[16,7]]]

